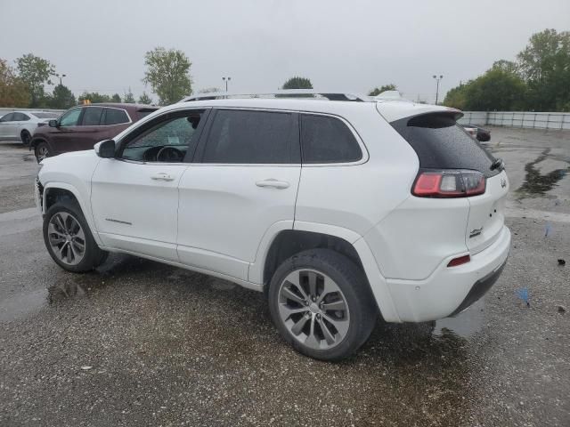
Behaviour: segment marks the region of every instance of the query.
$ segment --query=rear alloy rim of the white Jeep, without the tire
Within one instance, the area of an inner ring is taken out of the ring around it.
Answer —
[[[335,281],[316,270],[294,270],[281,282],[279,315],[289,333],[314,350],[344,340],[350,325],[346,297]]]

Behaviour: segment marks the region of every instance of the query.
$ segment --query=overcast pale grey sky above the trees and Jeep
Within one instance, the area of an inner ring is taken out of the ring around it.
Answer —
[[[194,91],[223,76],[232,91],[273,91],[299,75],[433,101],[434,74],[444,93],[544,28],[570,30],[570,0],[2,0],[0,58],[50,60],[76,95],[130,86],[138,97],[144,52],[162,45],[190,58]]]

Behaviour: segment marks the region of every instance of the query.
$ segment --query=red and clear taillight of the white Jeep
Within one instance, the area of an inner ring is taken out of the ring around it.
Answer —
[[[411,190],[417,197],[469,197],[485,193],[485,175],[476,171],[420,171]]]

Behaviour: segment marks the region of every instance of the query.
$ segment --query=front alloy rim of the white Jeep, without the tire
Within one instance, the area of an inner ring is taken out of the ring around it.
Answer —
[[[58,212],[50,219],[47,236],[53,254],[68,265],[77,265],[85,256],[85,233],[77,218]]]

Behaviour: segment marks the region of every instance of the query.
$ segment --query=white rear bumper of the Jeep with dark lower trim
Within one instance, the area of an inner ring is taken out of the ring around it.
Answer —
[[[501,275],[510,249],[510,231],[503,226],[492,246],[458,267],[444,260],[424,280],[387,279],[389,292],[404,322],[423,322],[454,316],[483,296]]]

